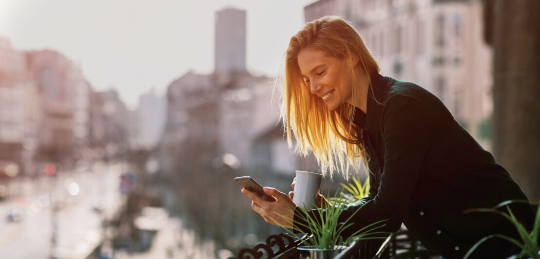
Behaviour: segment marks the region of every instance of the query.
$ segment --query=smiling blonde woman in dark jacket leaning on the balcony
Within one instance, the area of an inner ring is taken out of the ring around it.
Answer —
[[[330,177],[335,172],[347,176],[360,161],[367,163],[369,195],[341,205],[340,221],[358,210],[345,235],[387,219],[383,230],[397,231],[404,223],[426,248],[450,258],[463,257],[489,234],[516,235],[501,216],[463,214],[469,208],[527,200],[516,182],[433,94],[381,76],[349,23],[335,16],[307,23],[291,38],[285,69],[282,117],[289,145],[294,134],[297,150],[313,152]],[[267,222],[305,223],[296,216],[293,194],[268,187],[265,192],[277,201],[263,201],[242,189]],[[527,204],[512,209],[518,219],[530,214]],[[492,238],[475,255],[515,251]]]

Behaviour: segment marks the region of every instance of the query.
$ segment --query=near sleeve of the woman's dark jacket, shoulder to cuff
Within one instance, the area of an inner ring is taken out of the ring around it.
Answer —
[[[383,223],[386,226],[377,230],[399,230],[413,196],[438,115],[436,107],[426,107],[414,98],[395,96],[387,100],[381,114],[385,149],[381,182],[373,199],[366,199],[365,203],[359,201],[341,205],[343,211],[339,222],[352,217],[349,222],[354,223],[343,231],[344,236],[381,220],[387,220]],[[373,193],[370,189],[370,195]],[[317,214],[312,210],[309,216],[315,218]],[[297,226],[296,213],[294,224]]]

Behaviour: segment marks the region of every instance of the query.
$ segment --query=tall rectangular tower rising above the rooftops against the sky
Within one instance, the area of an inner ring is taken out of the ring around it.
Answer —
[[[215,71],[246,70],[246,11],[226,8],[215,13]]]

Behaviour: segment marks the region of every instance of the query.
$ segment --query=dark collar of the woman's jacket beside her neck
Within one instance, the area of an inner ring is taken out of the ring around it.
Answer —
[[[386,88],[389,78],[383,77],[379,73],[371,73],[369,76],[371,84],[368,92],[367,114],[360,108],[354,107],[353,122],[365,131],[376,132],[381,131],[381,104],[379,103],[383,102],[383,88]],[[379,103],[375,100],[379,101]]]

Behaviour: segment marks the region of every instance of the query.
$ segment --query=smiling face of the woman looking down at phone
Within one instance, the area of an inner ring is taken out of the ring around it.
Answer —
[[[352,79],[343,61],[313,48],[300,51],[298,66],[309,91],[325,102],[332,111],[343,103],[351,103]]]

